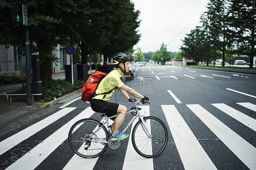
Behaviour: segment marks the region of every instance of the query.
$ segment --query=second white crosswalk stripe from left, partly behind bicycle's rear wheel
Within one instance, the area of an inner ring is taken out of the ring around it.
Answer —
[[[53,134],[43,140],[42,143],[36,145],[36,147],[10,165],[6,170],[34,170],[36,166],[41,164],[51,152],[67,139],[69,129],[74,123],[83,118],[89,118],[94,113],[95,112],[92,111],[91,107],[87,107],[67,124],[63,125],[60,129],[56,130]]]

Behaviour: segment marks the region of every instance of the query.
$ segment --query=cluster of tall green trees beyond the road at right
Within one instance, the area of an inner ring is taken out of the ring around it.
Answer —
[[[182,55],[187,59],[232,60],[237,55],[249,55],[252,68],[256,55],[256,2],[250,0],[210,0],[197,26],[184,37]],[[226,57],[228,57],[226,59]],[[208,65],[208,63],[207,63]]]

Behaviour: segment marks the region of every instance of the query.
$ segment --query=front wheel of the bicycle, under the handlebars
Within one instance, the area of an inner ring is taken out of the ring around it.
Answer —
[[[139,120],[132,132],[132,143],[136,152],[145,158],[154,158],[160,155],[167,145],[168,132],[166,126],[157,117],[143,118],[146,128],[151,135],[147,135],[143,122]]]

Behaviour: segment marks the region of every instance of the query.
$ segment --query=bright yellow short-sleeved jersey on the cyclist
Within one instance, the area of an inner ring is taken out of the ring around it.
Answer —
[[[108,75],[104,77],[100,82],[96,90],[96,96],[93,97],[92,99],[108,101],[109,98],[113,95],[114,90],[110,94],[107,94],[105,97],[104,95],[97,95],[97,94],[106,93],[114,89],[115,87],[119,88],[123,86],[123,82],[120,79],[122,76],[123,75],[120,75],[117,70],[112,70],[110,73],[108,73]]]

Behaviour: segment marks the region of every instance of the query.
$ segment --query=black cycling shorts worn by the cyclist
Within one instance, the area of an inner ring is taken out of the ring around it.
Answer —
[[[92,99],[91,107],[92,110],[98,113],[105,113],[108,117],[117,115],[117,110],[118,110],[119,104],[117,103],[111,103],[108,101],[103,101],[103,100],[97,100],[97,99]],[[111,120],[116,119],[116,117],[113,117]]]

